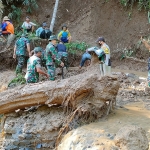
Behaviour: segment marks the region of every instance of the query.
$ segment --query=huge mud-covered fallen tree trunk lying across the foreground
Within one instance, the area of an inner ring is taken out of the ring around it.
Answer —
[[[98,74],[85,72],[65,80],[29,84],[2,92],[0,113],[39,104],[56,104],[76,109],[87,100],[100,107],[107,101],[114,102],[118,89],[119,83],[116,78],[101,78]]]

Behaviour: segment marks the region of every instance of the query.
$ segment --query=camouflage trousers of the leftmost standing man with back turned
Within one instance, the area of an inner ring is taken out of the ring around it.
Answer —
[[[17,61],[18,61],[18,64],[16,67],[16,75],[18,73],[22,73],[22,68],[25,64],[25,56],[17,56]]]

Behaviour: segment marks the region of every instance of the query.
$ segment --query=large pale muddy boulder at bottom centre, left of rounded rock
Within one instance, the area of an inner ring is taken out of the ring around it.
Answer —
[[[84,135],[84,136],[83,136]],[[97,135],[101,135],[98,137]],[[110,140],[110,133],[105,133],[103,130],[88,129],[88,126],[83,126],[69,132],[61,141],[58,150],[119,150],[114,142]]]

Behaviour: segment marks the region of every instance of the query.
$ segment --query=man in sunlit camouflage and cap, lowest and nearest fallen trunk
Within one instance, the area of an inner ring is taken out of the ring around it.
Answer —
[[[49,77],[49,75],[41,69],[41,55],[42,48],[35,47],[34,55],[31,56],[27,62],[27,73],[25,76],[27,83],[37,83],[39,81],[39,73],[43,74],[47,78]]]

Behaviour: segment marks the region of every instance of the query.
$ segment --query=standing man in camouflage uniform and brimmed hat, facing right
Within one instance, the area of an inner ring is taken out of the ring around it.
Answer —
[[[56,50],[56,44],[57,44],[57,37],[55,35],[50,36],[49,44],[46,47],[46,66],[48,70],[48,74],[50,76],[50,80],[55,80],[55,70],[56,65],[64,66],[64,63],[61,62],[57,50]]]

